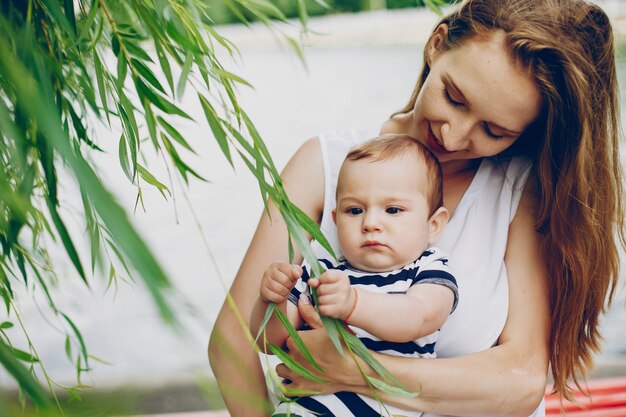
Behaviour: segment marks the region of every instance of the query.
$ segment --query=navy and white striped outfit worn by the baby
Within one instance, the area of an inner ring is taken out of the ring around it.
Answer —
[[[389,272],[365,272],[356,270],[346,261],[339,264],[327,259],[320,259],[323,268],[338,269],[345,271],[353,287],[383,294],[405,294],[407,290],[416,284],[439,284],[444,285],[454,293],[454,304],[452,311],[458,303],[458,287],[456,279],[448,266],[447,255],[437,248],[428,248],[414,262],[405,265],[403,268]],[[302,277],[289,294],[289,300],[298,304],[300,294],[304,293],[310,297],[310,289],[307,281],[310,278],[308,265],[303,265]],[[451,311],[451,313],[452,313]],[[400,318],[408,319],[410,318]],[[416,358],[435,357],[435,342],[438,331],[417,340],[397,343],[381,340],[376,336],[355,326],[348,326],[365,346],[369,349],[394,356],[406,356]],[[295,402],[320,416],[381,416],[387,414],[401,414],[406,416],[419,416],[421,413],[415,411],[400,410],[396,407],[381,405],[374,399],[351,392],[338,392],[332,395],[316,395],[312,397],[300,397]],[[294,404],[295,405],[295,404]],[[284,404],[283,404],[284,406]],[[279,406],[280,409],[284,407]],[[291,407],[291,413],[298,415],[297,406]]]

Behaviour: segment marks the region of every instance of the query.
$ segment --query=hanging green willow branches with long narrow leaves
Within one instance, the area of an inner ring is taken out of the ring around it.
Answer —
[[[307,2],[294,3],[306,29]],[[81,374],[91,369],[94,358],[78,326],[57,306],[52,287],[75,277],[89,286],[97,267],[108,272],[110,285],[121,271],[142,280],[162,318],[176,323],[169,278],[92,161],[103,149],[117,149],[120,168],[136,187],[138,201],[143,187],[154,187],[166,198],[171,194],[170,185],[150,171],[148,150],[163,156],[185,183],[192,177],[204,181],[184,156],[194,149],[175,127],[177,120],[192,119],[179,103],[184,93],[193,90],[205,116],[197,122],[213,133],[231,165],[238,157],[249,168],[263,200],[278,207],[292,242],[308,262],[316,264],[307,234],[332,253],[318,225],[287,199],[262,138],[238,102],[237,86],[249,84],[218,59],[218,49],[231,56],[238,51],[214,26],[216,4],[0,3],[0,364],[40,409],[55,400],[54,390],[28,338],[28,323],[16,308],[17,285],[43,295],[65,329],[65,351],[78,379],[68,388],[70,393],[81,387]],[[322,0],[315,4],[327,7]],[[276,32],[280,30],[274,22],[286,20],[269,0],[221,0],[219,5],[243,23],[260,21]],[[302,56],[298,41],[282,36]],[[80,191],[80,201],[73,203],[81,206],[79,223],[88,239],[86,248],[77,244],[77,233],[68,227],[70,214],[76,223],[76,213],[68,210],[65,202],[70,196],[64,194],[60,178],[71,178]],[[55,273],[50,245],[62,249],[75,277]],[[389,385],[397,384],[339,321],[324,322],[338,349],[347,347],[380,373],[383,380],[373,379],[372,386],[402,392]],[[18,331],[28,341],[26,347],[14,346],[12,332]],[[48,392],[36,375],[43,375]]]

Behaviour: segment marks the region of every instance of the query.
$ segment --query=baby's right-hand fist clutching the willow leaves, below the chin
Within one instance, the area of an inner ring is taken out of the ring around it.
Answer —
[[[308,284],[317,288],[317,305],[321,314],[345,320],[354,310],[356,290],[350,286],[350,278],[345,272],[326,271],[319,278],[310,279]]]

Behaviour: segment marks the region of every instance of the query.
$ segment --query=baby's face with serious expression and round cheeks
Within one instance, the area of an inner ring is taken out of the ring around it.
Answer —
[[[334,212],[346,260],[384,272],[417,259],[429,240],[427,190],[426,167],[417,158],[346,161]]]

